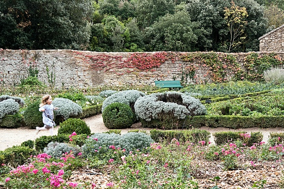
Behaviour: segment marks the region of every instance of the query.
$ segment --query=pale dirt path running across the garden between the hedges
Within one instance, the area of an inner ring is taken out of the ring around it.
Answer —
[[[106,132],[109,129],[105,127],[102,114],[92,116],[89,118],[84,119],[86,124],[90,126],[91,132]],[[129,130],[132,129],[141,129],[146,130],[149,132],[152,128],[142,128],[140,123],[134,124],[131,128],[121,129],[121,133],[127,133]],[[209,128],[209,127],[202,127],[200,129],[205,129],[211,132],[210,141],[214,144],[214,138],[212,133],[218,131],[246,131],[246,132],[257,132],[260,131],[263,134],[263,141],[267,142],[270,132],[284,132],[284,128],[245,128],[245,129],[228,129],[223,127],[218,128]],[[56,135],[58,132],[58,127],[54,128],[54,134]],[[5,150],[6,148],[12,147],[14,145],[20,145],[22,142],[27,140],[35,140],[39,136],[48,136],[49,131],[40,131],[36,135],[36,129],[29,129],[29,128],[0,128],[0,151]]]

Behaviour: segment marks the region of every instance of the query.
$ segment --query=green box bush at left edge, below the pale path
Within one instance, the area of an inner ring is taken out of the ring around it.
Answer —
[[[26,146],[13,146],[0,151],[0,156],[4,156],[2,163],[10,164],[12,167],[26,163],[27,159],[33,154],[34,150]]]

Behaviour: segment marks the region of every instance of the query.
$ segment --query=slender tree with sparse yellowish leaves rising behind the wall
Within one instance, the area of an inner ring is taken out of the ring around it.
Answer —
[[[228,51],[233,51],[237,46],[242,44],[246,36],[244,35],[244,28],[247,25],[246,18],[248,12],[246,7],[239,7],[234,1],[231,1],[232,6],[230,8],[225,7],[224,16],[230,32],[230,44]]]

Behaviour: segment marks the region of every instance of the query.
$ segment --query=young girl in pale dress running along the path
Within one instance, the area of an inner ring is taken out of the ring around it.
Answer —
[[[53,135],[53,127],[55,126],[53,110],[58,110],[58,107],[53,107],[51,95],[44,95],[39,104],[39,111],[42,112],[43,127],[36,127],[36,134],[41,130],[49,130],[50,135]]]

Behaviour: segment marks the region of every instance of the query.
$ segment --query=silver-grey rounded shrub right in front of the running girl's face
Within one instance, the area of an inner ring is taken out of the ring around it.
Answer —
[[[76,117],[82,113],[82,107],[67,98],[55,98],[52,104],[54,107],[59,107],[56,111],[56,115],[63,116],[65,120],[70,117]]]

